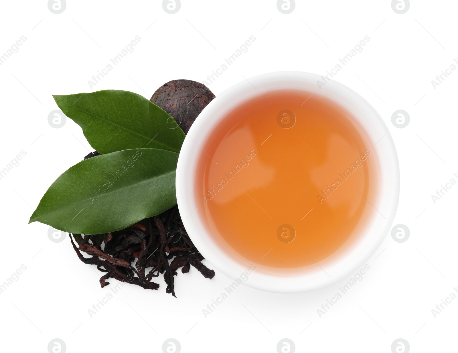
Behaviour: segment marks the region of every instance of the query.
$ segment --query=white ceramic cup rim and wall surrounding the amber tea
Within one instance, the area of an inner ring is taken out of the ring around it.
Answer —
[[[347,86],[331,80],[320,88],[317,81],[323,81],[321,76],[294,71],[274,72],[242,81],[219,94],[205,107],[181,147],[176,170],[176,197],[185,229],[211,266],[235,280],[240,278],[247,266],[229,255],[209,234],[194,193],[197,165],[203,153],[201,147],[218,123],[234,108],[260,94],[279,89],[299,89],[325,96],[346,107],[371,140],[380,169],[380,195],[373,205],[377,211],[359,240],[337,262],[323,263],[322,270],[276,275],[256,269],[242,283],[257,289],[278,293],[306,292],[325,288],[356,273],[381,245],[396,214],[399,199],[398,155],[387,126],[376,110]]]

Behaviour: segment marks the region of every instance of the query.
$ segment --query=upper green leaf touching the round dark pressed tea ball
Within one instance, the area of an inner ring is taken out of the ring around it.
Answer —
[[[53,97],[102,154],[133,148],[180,152],[185,139],[174,118],[136,93],[106,90]]]

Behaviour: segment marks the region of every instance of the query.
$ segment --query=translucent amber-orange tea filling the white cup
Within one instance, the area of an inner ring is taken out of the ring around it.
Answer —
[[[201,147],[200,217],[245,262],[316,266],[351,246],[377,212],[378,162],[365,130],[316,93],[253,98]]]

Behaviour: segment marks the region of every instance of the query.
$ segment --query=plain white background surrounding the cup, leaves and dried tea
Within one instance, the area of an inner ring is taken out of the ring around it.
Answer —
[[[67,352],[162,352],[170,337],[182,352],[276,352],[283,338],[296,352],[389,353],[397,338],[411,352],[456,349],[458,300],[436,317],[431,309],[458,286],[458,185],[436,203],[431,194],[458,181],[458,70],[436,89],[431,80],[458,58],[457,8],[419,0],[399,15],[390,0],[298,0],[284,15],[274,0],[182,0],[170,15],[160,0],[68,0],[56,15],[46,0],[3,1],[0,55],[21,36],[27,41],[0,66],[0,169],[21,150],[27,155],[0,180],[0,283],[22,264],[27,270],[0,294],[2,351],[47,352],[60,338]],[[134,52],[91,89],[87,81],[136,36]],[[175,278],[178,298],[161,278],[158,291],[125,285],[91,318],[88,309],[117,281],[101,289],[102,273],[80,262],[68,238],[54,243],[49,226],[27,225],[49,185],[92,151],[70,119],[49,125],[51,95],[120,89],[149,98],[169,80],[207,80],[250,36],[249,51],[209,86],[215,95],[243,76],[326,74],[371,38],[334,79],[365,97],[393,135],[401,170],[393,225],[407,225],[410,238],[397,243],[387,234],[364,279],[321,318],[316,310],[346,281],[290,295],[239,286],[206,318],[202,309],[232,280],[218,270],[209,280],[195,268]],[[406,128],[391,123],[398,109],[409,112]]]

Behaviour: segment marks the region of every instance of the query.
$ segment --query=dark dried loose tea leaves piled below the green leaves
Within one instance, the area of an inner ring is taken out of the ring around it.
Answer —
[[[102,288],[109,284],[108,278],[115,278],[144,289],[158,289],[159,284],[151,280],[164,273],[166,293],[176,297],[174,276],[178,268],[188,273],[192,265],[205,278],[215,275],[202,263],[204,257],[186,233],[178,206],[123,230],[98,235],[73,234],[73,237],[78,247],[70,235],[71,243],[80,260],[105,272],[100,278]],[[80,251],[92,257],[85,258]]]

